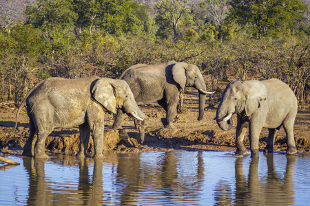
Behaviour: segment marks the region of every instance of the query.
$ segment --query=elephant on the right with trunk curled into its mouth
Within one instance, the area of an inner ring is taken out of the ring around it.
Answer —
[[[258,141],[263,127],[269,135],[265,152],[273,152],[277,131],[283,126],[287,134],[287,154],[296,153],[293,125],[298,111],[296,96],[284,82],[271,79],[230,82],[223,92],[216,111],[216,122],[223,130],[233,126],[231,115],[238,117],[236,128],[236,153],[245,155],[243,139],[249,128],[251,157],[258,157]]]

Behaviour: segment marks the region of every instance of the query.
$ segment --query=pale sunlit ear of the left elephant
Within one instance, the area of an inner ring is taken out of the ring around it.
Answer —
[[[97,80],[92,89],[93,98],[112,113],[116,113],[116,98],[114,93],[114,87],[107,78]]]

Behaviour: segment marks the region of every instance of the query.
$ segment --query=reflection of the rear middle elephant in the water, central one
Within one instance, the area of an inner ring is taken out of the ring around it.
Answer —
[[[121,195],[121,205],[137,205],[138,199],[141,198],[161,203],[159,197],[165,198],[165,203],[169,200],[194,202],[195,197],[200,195],[198,190],[203,184],[202,152],[198,152],[197,162],[197,169],[194,171],[196,175],[192,175],[192,168],[187,168],[191,170],[191,175],[183,176],[184,171],[179,168],[187,162],[181,162],[175,152],[166,152],[163,159],[156,158],[154,163],[143,162],[139,154],[132,154],[130,158],[120,157],[116,191]],[[120,184],[122,187],[119,187]],[[145,190],[148,191],[147,194]]]

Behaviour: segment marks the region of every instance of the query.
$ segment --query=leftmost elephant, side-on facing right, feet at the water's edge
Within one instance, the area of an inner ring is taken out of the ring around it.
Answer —
[[[94,138],[95,158],[103,157],[104,114],[116,113],[116,108],[140,120],[145,118],[138,108],[134,95],[123,80],[99,78],[50,78],[36,84],[26,95],[19,110],[27,106],[30,118],[30,135],[23,155],[45,158],[45,139],[54,128],[71,128],[79,125],[80,151],[78,157],[87,156],[90,135]],[[17,117],[19,115],[17,111]],[[17,124],[15,128],[17,127]],[[34,135],[37,143],[33,150]]]

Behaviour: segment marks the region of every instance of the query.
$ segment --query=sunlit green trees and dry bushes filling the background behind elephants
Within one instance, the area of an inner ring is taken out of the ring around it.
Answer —
[[[31,2],[23,19],[0,2],[1,100],[19,102],[45,78],[117,78],[137,63],[176,60],[200,67],[209,89],[278,78],[300,106],[310,103],[309,1]]]

